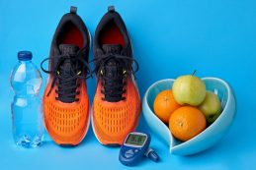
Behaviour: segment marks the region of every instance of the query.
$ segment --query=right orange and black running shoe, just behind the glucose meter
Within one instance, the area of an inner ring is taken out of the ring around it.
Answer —
[[[96,29],[93,61],[97,77],[93,130],[102,144],[121,145],[137,126],[140,97],[133,79],[138,65],[132,58],[126,25],[114,7],[109,7]]]

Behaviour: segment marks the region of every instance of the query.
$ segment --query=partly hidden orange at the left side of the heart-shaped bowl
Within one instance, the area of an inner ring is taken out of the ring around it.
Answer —
[[[173,96],[172,90],[159,92],[154,100],[154,113],[164,123],[168,124],[172,112],[181,107]]]

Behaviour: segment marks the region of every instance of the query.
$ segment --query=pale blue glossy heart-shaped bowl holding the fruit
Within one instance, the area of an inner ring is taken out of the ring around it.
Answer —
[[[153,103],[156,95],[165,89],[172,88],[174,80],[162,80],[150,85],[146,90],[142,101],[142,112],[149,128],[163,142],[170,146],[170,152],[177,155],[190,155],[203,151],[225,135],[231,123],[233,122],[236,112],[236,102],[232,89],[227,83],[216,78],[202,79],[207,90],[216,93],[221,101],[222,112],[219,117],[198,136],[187,142],[176,140],[169,131],[169,128],[154,114]]]

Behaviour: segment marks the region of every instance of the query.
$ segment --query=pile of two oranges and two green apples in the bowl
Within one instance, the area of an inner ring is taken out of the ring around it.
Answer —
[[[185,105],[185,106],[184,106]],[[221,113],[216,94],[207,91],[205,83],[193,75],[176,79],[172,88],[159,92],[154,99],[154,113],[172,135],[186,142],[202,133]]]

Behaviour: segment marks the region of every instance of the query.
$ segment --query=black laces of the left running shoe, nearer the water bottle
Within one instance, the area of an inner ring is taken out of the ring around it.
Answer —
[[[53,86],[56,84],[57,89],[55,92],[58,94],[57,97],[55,97],[56,100],[60,100],[63,102],[74,102],[78,101],[79,98],[76,98],[76,95],[80,93],[79,90],[76,90],[77,87],[80,86],[80,84],[77,84],[78,79],[88,79],[92,77],[92,73],[90,71],[88,63],[82,59],[82,57],[79,57],[81,54],[81,51],[78,52],[76,55],[59,55],[58,61],[56,63],[56,67],[53,69],[53,71],[47,71],[43,69],[43,63],[47,60],[52,60],[52,58],[45,58],[41,63],[41,68],[44,73],[46,74],[53,74],[54,78],[50,85],[50,89],[47,92],[47,95],[50,94]],[[63,64],[64,62],[67,62],[70,68],[66,68]],[[66,73],[69,69],[69,73]],[[87,76],[81,76],[83,71],[87,72]],[[58,82],[57,82],[58,80]]]

